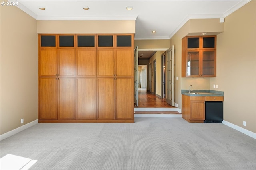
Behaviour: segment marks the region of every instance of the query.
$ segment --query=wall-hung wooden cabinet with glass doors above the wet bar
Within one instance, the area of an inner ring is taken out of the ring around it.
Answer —
[[[182,77],[216,77],[216,36],[182,39]]]

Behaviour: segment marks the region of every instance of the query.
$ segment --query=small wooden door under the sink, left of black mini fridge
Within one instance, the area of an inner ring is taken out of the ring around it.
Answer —
[[[190,102],[190,120],[204,120],[205,118],[205,102],[191,101]]]

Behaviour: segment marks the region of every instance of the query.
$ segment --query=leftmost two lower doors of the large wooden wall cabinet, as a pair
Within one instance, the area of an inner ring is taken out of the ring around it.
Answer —
[[[39,119],[75,119],[76,79],[39,78]]]

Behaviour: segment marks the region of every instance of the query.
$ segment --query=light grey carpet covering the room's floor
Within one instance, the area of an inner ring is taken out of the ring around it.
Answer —
[[[35,170],[255,170],[256,140],[220,123],[39,123],[0,142]]]

